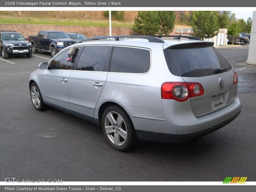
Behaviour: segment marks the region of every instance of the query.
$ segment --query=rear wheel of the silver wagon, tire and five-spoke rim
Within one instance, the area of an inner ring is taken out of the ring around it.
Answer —
[[[131,149],[138,141],[130,117],[117,105],[105,109],[101,125],[108,143],[118,151]]]

